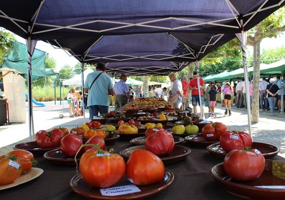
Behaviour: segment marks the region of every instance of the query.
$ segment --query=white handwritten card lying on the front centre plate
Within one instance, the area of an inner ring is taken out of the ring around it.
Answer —
[[[140,191],[141,190],[136,185],[123,185],[123,186],[100,189],[100,192],[103,196],[117,196],[122,194],[140,192]]]

